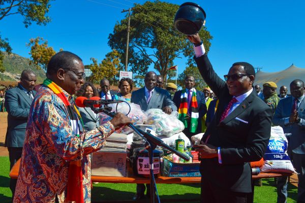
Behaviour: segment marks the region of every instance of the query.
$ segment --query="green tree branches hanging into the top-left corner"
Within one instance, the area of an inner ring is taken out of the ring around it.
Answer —
[[[20,14],[23,17],[23,24],[27,28],[32,22],[38,25],[46,25],[50,18],[46,16],[53,0],[0,0],[0,20],[7,16]],[[0,50],[5,50],[8,54],[12,48],[8,39],[0,36]],[[0,51],[0,72],[4,72],[3,54]]]

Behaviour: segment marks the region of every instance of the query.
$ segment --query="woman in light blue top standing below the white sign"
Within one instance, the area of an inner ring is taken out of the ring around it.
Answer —
[[[130,78],[122,78],[118,83],[118,89],[120,92],[116,95],[113,95],[112,99],[126,100],[130,102],[132,88],[132,80]]]

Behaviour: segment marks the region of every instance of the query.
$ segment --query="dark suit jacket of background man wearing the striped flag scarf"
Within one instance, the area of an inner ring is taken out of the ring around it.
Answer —
[[[179,90],[175,93],[173,101],[179,109],[180,103],[181,103],[181,92],[182,90]],[[201,132],[201,118],[206,114],[206,105],[205,105],[205,99],[204,99],[204,94],[203,92],[199,91],[196,89],[196,99],[197,99],[197,105],[198,105],[198,113],[199,113],[199,118],[198,118],[198,126],[197,126],[197,132]]]

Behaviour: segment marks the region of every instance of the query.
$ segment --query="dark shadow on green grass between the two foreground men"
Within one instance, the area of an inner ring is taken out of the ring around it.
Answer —
[[[92,202],[150,202],[150,199],[141,199],[138,201],[133,201],[132,197],[135,192],[120,191],[116,189],[111,189],[107,187],[93,187],[92,189]],[[191,198],[190,198],[191,197]],[[199,202],[199,194],[186,193],[186,194],[173,194],[173,195],[161,195],[161,202],[188,202],[197,203]]]

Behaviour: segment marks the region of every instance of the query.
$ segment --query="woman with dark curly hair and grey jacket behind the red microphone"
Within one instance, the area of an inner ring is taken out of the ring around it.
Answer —
[[[76,96],[84,96],[89,99],[93,96],[99,96],[99,92],[92,83],[86,82],[81,86],[80,90],[76,93]],[[100,126],[99,117],[90,107],[78,107],[78,111],[84,122],[85,131],[90,131]]]

